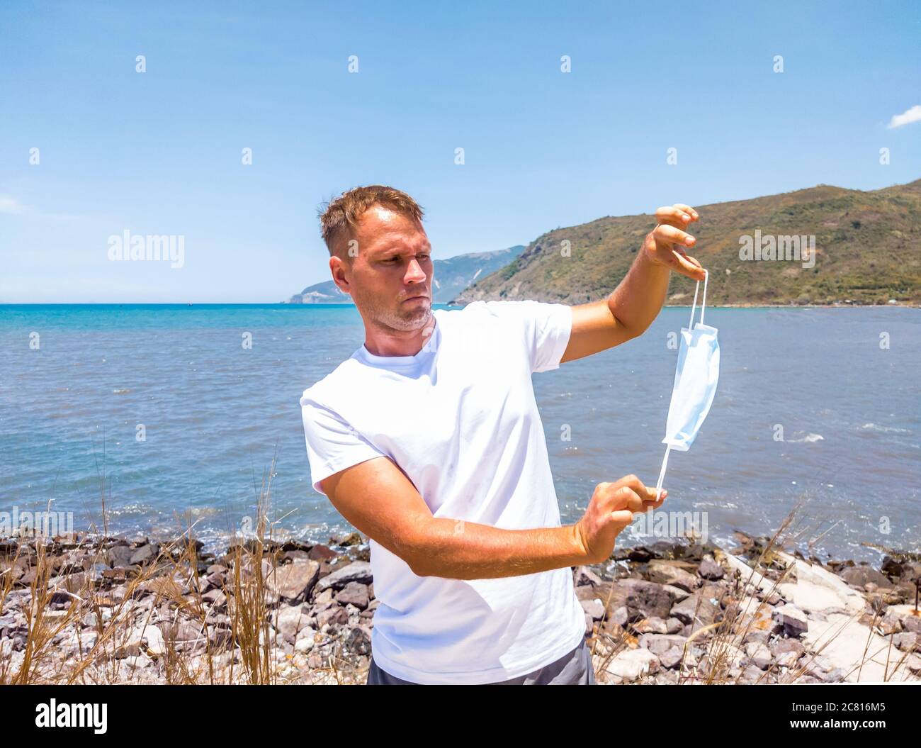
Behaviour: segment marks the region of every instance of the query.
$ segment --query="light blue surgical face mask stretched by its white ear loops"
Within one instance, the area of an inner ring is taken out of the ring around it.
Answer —
[[[700,281],[694,288],[694,304],[691,307],[691,321],[682,328],[681,344],[678,350],[678,365],[675,368],[675,383],[671,390],[669,417],[665,425],[665,438],[662,443],[668,445],[659,471],[656,496],[662,488],[665,467],[669,462],[671,450],[687,451],[694,444],[694,438],[710,412],[714,395],[717,394],[719,380],[719,343],[717,328],[704,324],[706,310],[706,281],[704,275],[704,298],[700,306],[700,321],[694,324],[694,311],[697,308],[697,292]]]

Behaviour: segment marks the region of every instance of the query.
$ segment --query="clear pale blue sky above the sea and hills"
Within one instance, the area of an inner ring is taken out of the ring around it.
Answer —
[[[287,298],[329,278],[317,208],[359,184],[411,193],[444,258],[921,177],[921,122],[888,126],[921,105],[915,2],[8,0],[0,27],[6,302]],[[111,262],[126,229],[183,266]]]

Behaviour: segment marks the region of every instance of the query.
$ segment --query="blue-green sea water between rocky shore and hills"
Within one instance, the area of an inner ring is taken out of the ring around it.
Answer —
[[[709,537],[731,543],[737,528],[772,532],[803,499],[804,550],[820,535],[820,554],[917,549],[921,310],[706,314],[719,389],[692,449],[670,458],[665,508],[706,512]],[[662,310],[642,337],[534,376],[564,521],[601,481],[655,483],[677,357],[667,342],[687,317]],[[191,517],[217,542],[254,517],[276,457],[272,516],[325,541],[347,526],[310,487],[297,401],[363,341],[350,306],[0,306],[0,510],[52,501],[76,529],[101,528],[104,497],[110,531],[169,532]]]

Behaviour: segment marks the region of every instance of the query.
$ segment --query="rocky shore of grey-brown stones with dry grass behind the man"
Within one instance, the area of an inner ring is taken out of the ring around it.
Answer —
[[[600,684],[921,681],[921,555],[660,541],[573,569]],[[367,539],[0,541],[0,683],[363,684]]]

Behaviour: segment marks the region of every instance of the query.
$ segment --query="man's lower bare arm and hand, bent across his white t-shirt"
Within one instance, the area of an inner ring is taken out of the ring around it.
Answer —
[[[533,530],[434,517],[413,483],[386,457],[334,473],[321,489],[345,520],[401,557],[414,574],[495,579],[606,559],[617,533],[633,520],[631,512],[661,504],[654,490],[628,478],[600,484],[577,524]]]

